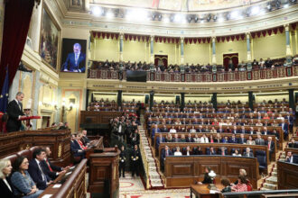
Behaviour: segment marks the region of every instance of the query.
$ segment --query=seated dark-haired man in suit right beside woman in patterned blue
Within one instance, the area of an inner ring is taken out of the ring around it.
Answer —
[[[51,177],[45,174],[45,170],[42,168],[42,161],[46,157],[45,150],[42,148],[36,148],[33,151],[33,159],[29,161],[28,172],[33,178],[34,183],[38,189],[44,190],[52,183]]]

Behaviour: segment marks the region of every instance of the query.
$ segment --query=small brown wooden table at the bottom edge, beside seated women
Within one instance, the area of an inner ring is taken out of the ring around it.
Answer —
[[[210,193],[208,185],[209,184],[191,184],[191,198],[192,193],[194,193],[196,198],[218,198],[219,193]],[[219,189],[219,191],[224,188],[222,184],[215,184],[215,186]]]

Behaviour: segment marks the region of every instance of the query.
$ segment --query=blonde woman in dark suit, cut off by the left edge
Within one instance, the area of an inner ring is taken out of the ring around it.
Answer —
[[[12,173],[12,164],[8,159],[0,160],[0,189],[1,196],[6,198],[16,197],[13,193],[13,187],[8,175]]]

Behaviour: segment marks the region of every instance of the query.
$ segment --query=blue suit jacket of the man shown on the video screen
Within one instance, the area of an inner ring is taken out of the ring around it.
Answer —
[[[86,55],[80,51],[78,63],[76,65],[75,54],[69,53],[68,57],[65,60],[65,63],[61,67],[61,70],[68,69],[69,71],[74,71],[75,69],[79,69],[80,72],[85,72],[86,65]]]

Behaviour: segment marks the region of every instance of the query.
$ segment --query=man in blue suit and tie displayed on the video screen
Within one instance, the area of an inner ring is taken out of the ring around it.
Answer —
[[[65,63],[62,65],[62,71],[69,72],[85,72],[85,59],[86,55],[81,52],[79,43],[73,45],[73,53],[69,53]]]

